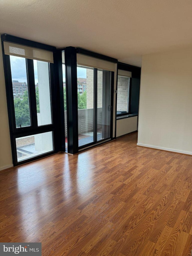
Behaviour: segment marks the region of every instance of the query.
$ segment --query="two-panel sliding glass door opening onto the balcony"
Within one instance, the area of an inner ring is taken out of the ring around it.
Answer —
[[[111,71],[77,66],[79,149],[109,139]]]

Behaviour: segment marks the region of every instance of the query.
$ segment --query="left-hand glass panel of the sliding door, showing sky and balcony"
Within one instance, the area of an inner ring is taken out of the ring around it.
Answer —
[[[93,142],[93,74],[93,68],[77,67],[79,146]]]

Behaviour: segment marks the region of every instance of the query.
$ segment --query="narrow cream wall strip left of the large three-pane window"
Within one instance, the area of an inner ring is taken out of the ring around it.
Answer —
[[[1,43],[1,40],[0,40]],[[11,85],[12,86],[12,85]],[[0,170],[13,166],[9,123],[7,114],[7,100],[3,70],[2,49],[0,46]]]

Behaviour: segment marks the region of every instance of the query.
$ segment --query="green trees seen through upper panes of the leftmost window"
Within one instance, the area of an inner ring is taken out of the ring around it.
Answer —
[[[38,88],[35,89],[36,91],[36,101],[37,101],[37,113],[40,112],[39,108],[39,91]],[[28,92],[25,91],[22,95],[22,98],[15,98],[14,99],[14,108],[15,108],[15,120],[16,120],[16,127],[24,127],[31,125],[30,121],[30,110],[29,110],[29,98]]]

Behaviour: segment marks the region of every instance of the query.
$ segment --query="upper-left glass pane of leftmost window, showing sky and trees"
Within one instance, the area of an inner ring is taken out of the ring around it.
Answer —
[[[26,59],[10,56],[16,128],[31,126]]]

